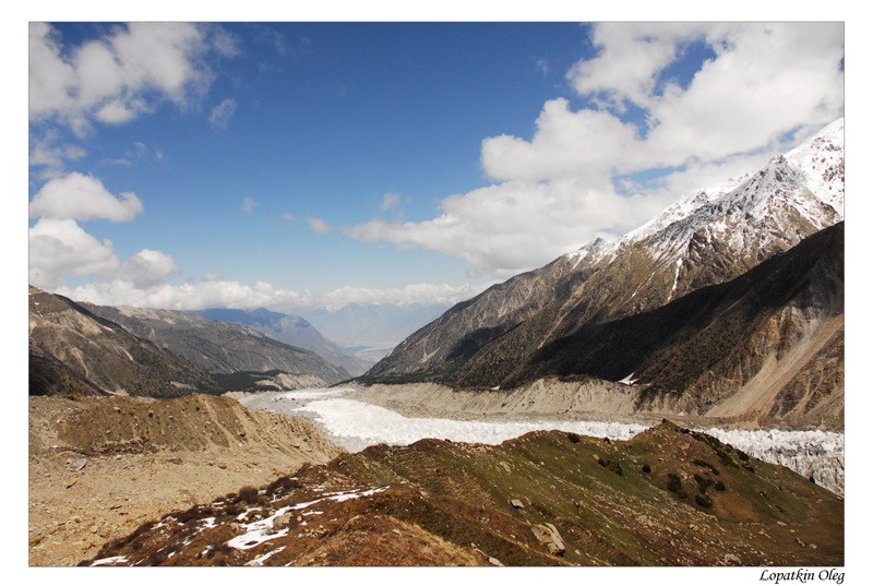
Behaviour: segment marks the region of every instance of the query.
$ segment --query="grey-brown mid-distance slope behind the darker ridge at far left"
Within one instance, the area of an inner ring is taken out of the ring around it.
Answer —
[[[350,378],[345,369],[327,363],[315,352],[239,324],[184,311],[83,306],[211,373],[287,373],[306,376],[307,385],[330,385]]]

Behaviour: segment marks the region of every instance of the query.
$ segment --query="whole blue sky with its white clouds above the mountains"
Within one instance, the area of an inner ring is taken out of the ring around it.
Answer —
[[[844,24],[28,24],[28,282],[455,302],[845,113]]]

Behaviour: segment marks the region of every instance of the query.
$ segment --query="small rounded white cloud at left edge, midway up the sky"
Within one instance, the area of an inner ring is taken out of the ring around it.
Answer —
[[[50,179],[31,201],[31,217],[130,222],[143,211],[135,193],[115,196],[99,179],[71,172]]]

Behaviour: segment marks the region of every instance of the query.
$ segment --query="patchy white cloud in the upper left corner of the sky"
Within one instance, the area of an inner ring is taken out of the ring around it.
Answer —
[[[205,57],[236,50],[220,27],[189,23],[113,26],[76,47],[46,23],[31,23],[28,36],[29,120],[56,120],[80,134],[95,120],[127,122],[160,99],[188,106],[212,83]]]

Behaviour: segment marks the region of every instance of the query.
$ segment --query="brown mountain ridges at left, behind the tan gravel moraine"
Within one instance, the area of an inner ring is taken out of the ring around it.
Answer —
[[[350,378],[311,350],[183,311],[76,303],[29,289],[31,394],[326,386]]]

